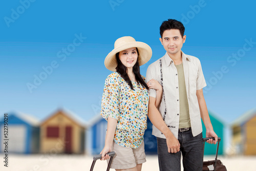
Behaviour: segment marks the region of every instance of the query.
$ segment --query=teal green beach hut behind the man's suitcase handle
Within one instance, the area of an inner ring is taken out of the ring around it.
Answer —
[[[226,137],[224,135],[224,129],[225,129],[226,123],[217,114],[215,114],[211,111],[208,111],[208,113],[209,113],[212,127],[214,127],[214,132],[218,135],[218,137],[221,137],[218,155],[223,155],[224,154],[224,144],[225,144],[224,142],[226,141]],[[202,126],[203,126],[203,138],[205,138],[206,129],[205,129],[203,121],[202,121]],[[215,147],[214,147],[214,144],[205,143],[204,155],[215,155],[216,148],[217,148],[217,145],[215,145]]]

